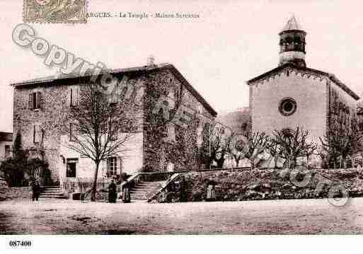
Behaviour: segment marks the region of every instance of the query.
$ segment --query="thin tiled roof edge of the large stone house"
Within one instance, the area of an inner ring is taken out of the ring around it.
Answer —
[[[137,72],[147,72],[147,71],[157,71],[157,70],[161,70],[161,69],[169,69],[178,79],[181,83],[183,83],[183,85],[185,86],[185,88],[188,89],[188,91],[190,91],[190,93],[192,93],[193,96],[195,96],[195,98],[197,98],[197,100],[202,103],[202,105],[204,105],[204,107],[209,111],[209,113],[211,115],[213,115],[214,117],[217,116],[217,111],[214,110],[212,108],[211,105],[209,105],[209,103],[207,103],[206,100],[204,100],[204,98],[200,95],[200,93],[197,92],[197,90],[195,90],[194,87],[192,87],[192,85],[190,85],[190,83],[184,78],[184,76],[182,74],[180,74],[180,72],[178,71],[178,69],[176,69],[173,64],[169,64],[169,63],[165,63],[165,64],[155,64],[153,66],[143,66],[143,67],[132,67],[132,68],[125,68],[125,69],[113,69],[111,71],[108,71],[110,74],[126,74],[126,73],[137,73]],[[84,77],[91,77],[91,75],[85,75]],[[15,86],[15,87],[20,87],[20,86],[38,86],[38,85],[47,85],[47,84],[51,84],[53,81],[57,81],[57,80],[65,80],[65,79],[78,79],[80,78],[80,76],[76,76],[76,75],[67,75],[67,76],[48,76],[45,78],[40,78],[40,79],[32,79],[29,81],[23,81],[23,82],[19,82],[19,83],[13,83],[11,84],[11,86]]]

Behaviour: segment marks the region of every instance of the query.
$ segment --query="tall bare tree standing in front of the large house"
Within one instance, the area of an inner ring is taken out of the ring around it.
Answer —
[[[125,144],[137,132],[137,105],[132,100],[114,100],[102,86],[88,83],[79,88],[77,105],[69,109],[65,124],[69,149],[95,163],[91,200],[96,201],[98,168],[110,156],[122,156]]]

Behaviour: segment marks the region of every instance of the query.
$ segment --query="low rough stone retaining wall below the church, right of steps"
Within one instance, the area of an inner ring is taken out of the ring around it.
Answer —
[[[350,197],[363,196],[363,171],[350,169],[312,169],[311,180],[301,187],[290,181],[287,171],[281,169],[253,171],[205,171],[183,173],[187,182],[187,200],[207,200],[207,185],[213,181],[216,200],[279,200],[300,198],[325,198],[335,185],[342,185]],[[304,173],[296,179],[302,180]],[[323,183],[321,191],[318,184]],[[166,190],[156,197],[156,202],[178,202],[180,192]]]

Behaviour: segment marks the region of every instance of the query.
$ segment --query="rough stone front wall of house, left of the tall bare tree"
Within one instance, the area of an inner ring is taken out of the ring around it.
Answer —
[[[14,89],[13,133],[21,132],[23,148],[33,150],[32,156],[49,163],[52,180],[59,180],[59,144],[62,124],[67,122],[69,108],[69,88],[67,81],[59,81],[53,86],[23,86]],[[40,92],[40,109],[29,109],[29,93]],[[42,142],[34,144],[34,126],[42,129]],[[16,135],[14,135],[15,137]]]

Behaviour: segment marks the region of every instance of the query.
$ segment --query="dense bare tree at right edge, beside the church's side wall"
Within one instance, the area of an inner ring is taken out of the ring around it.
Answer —
[[[357,125],[347,125],[342,118],[338,118],[331,123],[323,139],[320,138],[321,144],[328,151],[328,156],[334,160],[340,157],[340,168],[342,164],[346,167],[346,159],[355,152],[362,149],[362,132]]]

